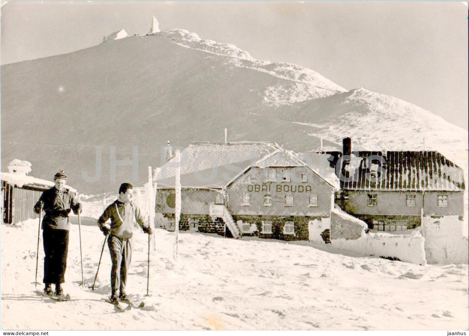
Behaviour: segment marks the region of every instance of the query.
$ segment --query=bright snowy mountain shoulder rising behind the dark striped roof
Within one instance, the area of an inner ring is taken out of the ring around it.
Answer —
[[[462,168],[467,166],[468,132],[414,104],[356,88],[278,110],[278,117],[309,125],[310,135],[353,150],[437,150]]]

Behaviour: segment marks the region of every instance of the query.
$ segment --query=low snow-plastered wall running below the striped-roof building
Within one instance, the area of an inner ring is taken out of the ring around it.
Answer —
[[[418,231],[408,234],[369,232],[358,239],[335,239],[332,246],[369,256],[399,258],[407,263],[425,265],[424,237]]]

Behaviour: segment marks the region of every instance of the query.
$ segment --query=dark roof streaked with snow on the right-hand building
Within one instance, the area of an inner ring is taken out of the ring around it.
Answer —
[[[357,155],[356,152],[353,153]],[[382,156],[380,160],[369,160],[371,155]],[[359,164],[350,171],[348,181],[340,181],[344,190],[444,190],[465,189],[464,172],[453,162],[436,151],[388,151],[358,152]],[[373,164],[370,164],[373,163]],[[378,164],[378,165],[377,165]],[[384,168],[384,171],[380,169]],[[378,168],[378,173],[372,171]],[[381,171],[381,172],[380,172]],[[352,178],[353,175],[353,178]]]

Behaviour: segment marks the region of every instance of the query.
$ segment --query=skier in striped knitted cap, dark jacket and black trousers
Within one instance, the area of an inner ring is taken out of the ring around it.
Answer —
[[[36,213],[40,209],[45,215],[42,221],[42,236],[44,244],[44,292],[53,295],[51,284],[55,284],[55,295],[61,295],[61,284],[65,282],[65,270],[67,268],[68,232],[70,222],[68,214],[71,210],[75,214],[82,211],[82,205],[78,203],[76,194],[65,188],[67,175],[61,170],[54,175],[54,186],[45,190],[34,206]]]

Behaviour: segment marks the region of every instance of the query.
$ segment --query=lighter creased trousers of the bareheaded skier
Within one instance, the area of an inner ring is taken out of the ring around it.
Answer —
[[[132,242],[130,239],[118,238],[111,234],[107,238],[107,246],[113,263],[111,268],[111,290],[114,293],[125,289],[127,270],[132,257]]]

